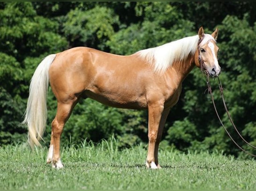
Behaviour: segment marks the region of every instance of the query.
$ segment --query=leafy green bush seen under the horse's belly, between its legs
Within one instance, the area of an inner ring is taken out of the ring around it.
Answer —
[[[64,134],[68,133],[74,140],[89,138],[97,142],[113,133],[120,134],[123,129],[121,122],[122,115],[117,108],[88,99],[76,106]]]

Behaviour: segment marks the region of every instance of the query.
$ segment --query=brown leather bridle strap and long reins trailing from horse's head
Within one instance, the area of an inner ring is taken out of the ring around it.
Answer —
[[[210,95],[211,95],[212,102],[213,102],[213,106],[214,106],[215,112],[216,112],[216,114],[217,114],[217,117],[218,117],[218,119],[219,119],[219,121],[220,121],[222,127],[225,129],[226,133],[228,134],[228,136],[230,137],[230,139],[235,143],[235,145],[236,145],[238,148],[240,148],[242,151],[246,152],[247,154],[256,157],[256,155],[254,155],[254,154],[252,154],[252,153],[250,153],[250,152],[244,150],[241,146],[239,146],[239,145],[237,144],[237,142],[232,138],[232,136],[231,136],[230,133],[228,132],[227,128],[224,126],[224,124],[223,124],[223,122],[222,122],[222,120],[221,120],[221,118],[220,118],[220,116],[219,116],[219,113],[218,113],[218,111],[217,111],[217,108],[216,108],[216,105],[215,105],[215,102],[214,102],[214,97],[213,97],[213,94],[212,94],[212,87],[211,87],[210,80],[209,80],[209,73],[208,73],[208,71],[206,70],[205,64],[204,64],[204,62],[203,62],[203,60],[201,59],[201,56],[200,56],[200,46],[199,46],[199,45],[200,45],[200,43],[202,42],[203,38],[204,38],[204,36],[203,36],[203,37],[199,40],[199,42],[198,42],[198,61],[199,61],[199,64],[200,64],[200,66],[201,66],[201,71],[206,74],[206,82],[207,82],[207,86],[208,86],[208,89],[207,89],[207,90],[208,90],[208,93],[210,93]],[[242,140],[243,140],[246,144],[248,144],[250,147],[256,149],[255,146],[251,145],[248,141],[246,141],[246,140],[244,139],[244,137],[241,135],[241,133],[238,131],[236,125],[234,124],[234,122],[233,122],[233,120],[232,120],[232,118],[231,118],[231,116],[230,116],[230,113],[229,113],[229,111],[228,111],[228,108],[227,108],[227,105],[226,105],[226,101],[225,101],[225,99],[224,99],[222,84],[221,84],[221,82],[220,82],[219,77],[217,77],[217,78],[218,78],[218,81],[219,81],[219,90],[220,90],[220,94],[221,94],[221,97],[222,97],[223,105],[224,105],[224,107],[225,107],[225,110],[226,110],[226,113],[227,113],[227,115],[228,115],[228,117],[229,117],[230,122],[232,123],[234,129],[236,130],[236,132],[238,133],[238,135],[240,136],[240,138],[242,138]]]

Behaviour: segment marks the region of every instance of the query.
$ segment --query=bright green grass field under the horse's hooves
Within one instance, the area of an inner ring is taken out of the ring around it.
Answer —
[[[162,169],[147,169],[142,145],[115,141],[63,147],[64,168],[46,164],[47,148],[0,147],[0,189],[255,189],[256,164],[222,154],[159,151]]]

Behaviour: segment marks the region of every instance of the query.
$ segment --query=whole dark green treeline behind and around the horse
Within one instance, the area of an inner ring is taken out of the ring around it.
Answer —
[[[256,145],[255,2],[0,2],[0,145],[26,141],[20,127],[29,82],[48,54],[87,46],[120,55],[196,35],[219,27],[220,79],[231,116]],[[224,112],[217,80],[211,80],[216,104],[234,139],[247,150]],[[242,153],[229,139],[204,94],[206,80],[195,68],[185,79],[178,103],[164,128],[161,148]],[[56,101],[48,93],[44,135],[49,144]],[[147,143],[147,111],[107,107],[81,100],[67,122],[62,144],[114,135],[120,148]],[[244,153],[243,153],[244,155]]]

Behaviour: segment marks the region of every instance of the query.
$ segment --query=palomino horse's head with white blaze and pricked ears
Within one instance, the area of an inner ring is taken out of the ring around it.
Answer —
[[[217,77],[221,73],[221,67],[219,66],[217,56],[219,47],[216,45],[218,27],[212,35],[204,34],[203,27],[200,27],[198,36],[198,54],[195,54],[196,66],[205,70],[209,76]]]

